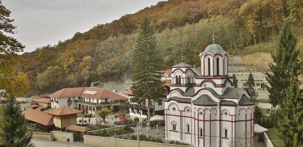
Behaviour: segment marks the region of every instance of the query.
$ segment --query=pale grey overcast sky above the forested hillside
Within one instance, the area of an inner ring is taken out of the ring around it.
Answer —
[[[2,0],[2,5],[12,11],[17,26],[18,33],[10,36],[26,46],[24,52],[31,52],[159,1],[164,0]]]

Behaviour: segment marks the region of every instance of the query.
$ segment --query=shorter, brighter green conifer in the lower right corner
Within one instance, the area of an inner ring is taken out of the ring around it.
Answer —
[[[285,90],[286,98],[280,104],[278,133],[285,147],[297,147],[303,143],[303,98],[298,80],[294,79]]]

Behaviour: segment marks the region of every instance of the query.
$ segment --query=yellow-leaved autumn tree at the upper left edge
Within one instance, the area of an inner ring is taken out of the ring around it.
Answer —
[[[14,21],[9,18],[11,11],[2,5],[1,0],[0,4],[0,87],[11,95],[21,96],[25,92],[30,92],[30,83],[26,81],[28,78],[26,74],[23,72],[15,74],[12,67],[16,64],[15,60],[18,60],[16,53],[22,52],[24,46],[15,38],[5,35],[15,34],[13,30],[17,27],[11,24]]]

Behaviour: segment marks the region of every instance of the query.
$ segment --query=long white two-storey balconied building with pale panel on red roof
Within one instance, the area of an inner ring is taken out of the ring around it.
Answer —
[[[64,88],[49,95],[52,108],[69,106],[83,109],[85,113],[97,114],[105,107],[110,109],[124,104],[128,98],[117,93],[96,87]]]

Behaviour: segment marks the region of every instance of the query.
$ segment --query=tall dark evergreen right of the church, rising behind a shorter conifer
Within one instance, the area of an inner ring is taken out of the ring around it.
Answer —
[[[266,88],[268,88],[270,103],[274,107],[283,102],[286,97],[285,90],[291,80],[300,74],[299,51],[296,50],[297,41],[290,27],[290,24],[285,21],[280,32],[277,52],[271,56],[276,65],[269,64],[273,74],[266,73],[266,80],[270,84],[270,87],[266,85]]]

